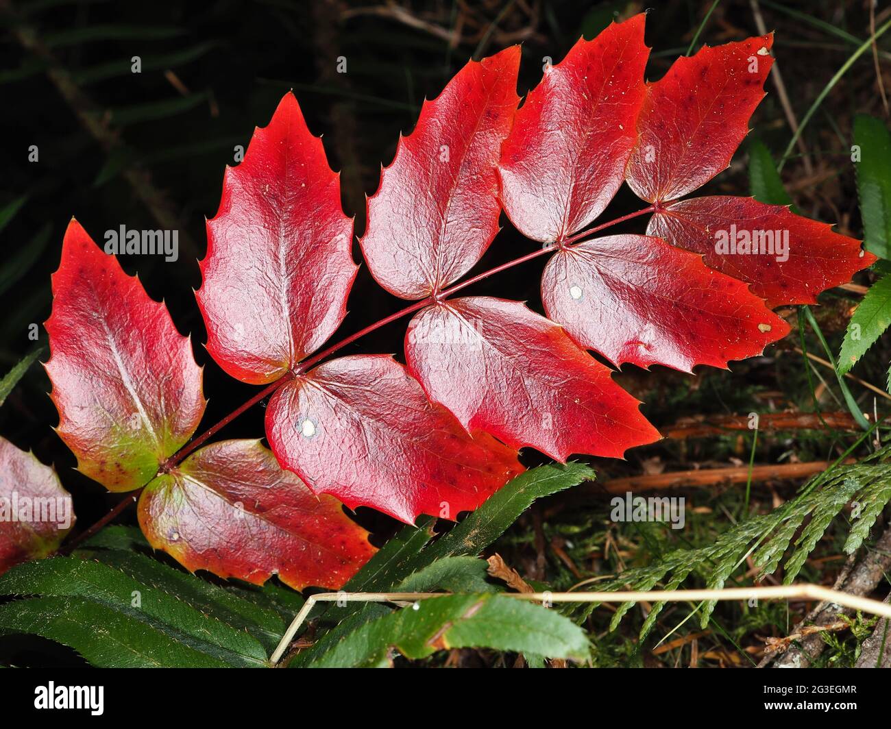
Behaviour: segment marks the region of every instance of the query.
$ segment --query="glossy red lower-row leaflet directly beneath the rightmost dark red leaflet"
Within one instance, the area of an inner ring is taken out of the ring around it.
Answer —
[[[613,364],[725,367],[789,333],[745,283],[646,235],[558,251],[544,269],[542,299],[573,339]]]

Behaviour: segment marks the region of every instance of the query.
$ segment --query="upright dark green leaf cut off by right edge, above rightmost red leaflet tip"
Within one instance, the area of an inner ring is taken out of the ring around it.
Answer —
[[[891,258],[891,135],[880,119],[861,114],[854,119],[854,144],[866,250]]]

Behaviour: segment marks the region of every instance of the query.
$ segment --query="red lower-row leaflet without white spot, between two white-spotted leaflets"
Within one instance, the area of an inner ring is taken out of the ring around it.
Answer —
[[[409,370],[470,431],[565,461],[658,440],[638,401],[563,329],[518,301],[451,299],[414,317]]]

